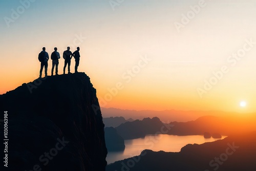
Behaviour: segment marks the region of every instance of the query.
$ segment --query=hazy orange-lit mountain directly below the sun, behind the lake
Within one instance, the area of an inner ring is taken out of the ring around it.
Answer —
[[[174,125],[169,130],[170,135],[204,135],[210,133],[212,137],[220,138],[221,135],[241,134],[256,131],[255,116],[215,117],[203,116],[195,121],[170,122]],[[239,129],[237,129],[239,124]]]

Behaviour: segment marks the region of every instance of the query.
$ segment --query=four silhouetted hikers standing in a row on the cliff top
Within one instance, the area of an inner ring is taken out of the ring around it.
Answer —
[[[75,58],[75,73],[77,73],[77,68],[79,66],[79,60],[80,60],[80,48],[77,47],[77,50],[72,53],[70,51],[70,47],[67,47],[67,50],[63,52],[63,58],[65,59],[65,64],[63,68],[63,74],[65,74],[66,67],[68,65],[68,74],[70,74],[70,65],[71,65],[71,59],[74,56]],[[51,54],[52,59],[52,75],[55,68],[55,74],[58,75],[58,65],[59,65],[59,59],[60,55],[59,52],[57,52],[57,48],[54,48],[54,52]],[[38,55],[38,60],[41,62],[41,68],[40,68],[40,74],[39,77],[42,77],[42,70],[45,67],[45,76],[47,76],[47,69],[48,69],[48,60],[49,60],[49,54],[46,52],[46,48],[42,48],[42,51]]]

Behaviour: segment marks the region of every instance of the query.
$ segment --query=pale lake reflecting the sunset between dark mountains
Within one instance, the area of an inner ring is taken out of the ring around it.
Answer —
[[[222,136],[221,139],[227,136]],[[123,152],[109,152],[106,156],[108,164],[118,160],[123,160],[133,156],[138,156],[144,149],[151,149],[155,152],[180,152],[181,148],[186,144],[203,144],[205,142],[213,142],[219,139],[205,139],[203,135],[193,136],[176,136],[176,135],[146,135],[145,138],[133,140],[125,140],[125,149]]]

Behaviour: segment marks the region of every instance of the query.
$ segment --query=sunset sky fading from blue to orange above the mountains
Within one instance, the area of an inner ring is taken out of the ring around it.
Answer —
[[[24,11],[21,2],[28,0],[0,2],[0,94],[39,76],[42,47],[58,48],[62,74],[63,50],[79,46],[78,71],[90,76],[102,107],[256,112],[256,44],[245,45],[256,42],[254,0],[206,0],[197,14],[194,0],[36,0]],[[12,9],[20,14],[8,27]],[[178,31],[183,14],[190,19]],[[215,82],[200,96],[205,80]]]

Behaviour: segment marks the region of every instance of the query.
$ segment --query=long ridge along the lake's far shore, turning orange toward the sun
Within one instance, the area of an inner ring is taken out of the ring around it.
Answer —
[[[147,134],[168,135],[204,135],[205,132],[229,136],[247,131],[256,131],[255,117],[215,117],[203,116],[195,121],[163,123],[158,117],[144,118],[133,122],[125,122],[115,127],[124,139],[143,138]],[[239,129],[237,125],[239,124]]]

